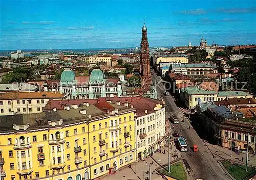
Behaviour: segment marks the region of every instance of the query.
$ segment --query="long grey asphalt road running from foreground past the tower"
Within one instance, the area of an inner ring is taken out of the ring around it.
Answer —
[[[156,82],[162,81],[160,76],[157,76],[154,72],[152,78],[153,81]],[[162,83],[158,83],[157,91],[160,98],[160,96],[162,96],[165,91],[165,87]],[[184,114],[180,108],[176,106],[172,96],[164,96],[164,99],[166,112],[173,112],[173,114],[179,118],[184,117]],[[166,115],[168,116],[168,113],[166,113]],[[190,130],[188,130],[188,126],[190,126]],[[190,171],[190,179],[229,179],[229,177],[225,174],[217,161],[214,159],[202,139],[200,139],[196,131],[193,129],[188,119],[185,119],[184,122],[180,122],[177,126],[175,126],[175,129],[176,132],[180,134],[180,136],[183,136],[186,139],[188,147],[192,147],[193,144],[197,144],[199,147],[199,152],[193,152],[189,148],[189,150],[192,152],[191,156],[189,152],[181,152],[181,156],[184,158],[183,161]]]

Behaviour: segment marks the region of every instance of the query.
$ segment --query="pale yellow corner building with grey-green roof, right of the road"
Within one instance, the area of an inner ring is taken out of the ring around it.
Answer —
[[[218,92],[216,91],[206,91],[197,86],[187,87],[181,89],[181,100],[184,102],[187,108],[194,109],[197,107],[198,101],[207,102],[215,101],[217,99]]]

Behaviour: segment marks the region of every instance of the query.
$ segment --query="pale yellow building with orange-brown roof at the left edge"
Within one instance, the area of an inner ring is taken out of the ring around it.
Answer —
[[[50,99],[64,97],[59,92],[0,93],[0,116],[40,113]]]

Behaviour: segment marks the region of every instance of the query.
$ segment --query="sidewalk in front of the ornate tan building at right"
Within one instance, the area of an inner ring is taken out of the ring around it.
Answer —
[[[234,163],[239,162],[246,164],[246,154],[244,153],[240,153],[240,155],[238,155],[237,153],[229,150],[228,148],[221,147],[219,145],[212,145],[208,142],[205,142],[205,144],[210,149],[211,153],[215,156],[216,159],[227,159],[232,160]],[[244,158],[243,162],[242,157]],[[256,156],[249,154],[248,164],[251,166],[256,166]]]

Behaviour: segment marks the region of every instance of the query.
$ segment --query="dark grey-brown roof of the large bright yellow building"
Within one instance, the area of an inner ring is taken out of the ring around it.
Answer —
[[[107,102],[105,102],[107,103]],[[107,103],[108,104],[108,103]],[[96,105],[97,106],[97,105]],[[51,122],[59,122],[63,120],[62,124],[55,124],[54,127],[63,126],[67,124],[73,123],[88,123],[93,120],[97,120],[100,118],[107,118],[110,116],[116,116],[113,114],[108,114],[100,109],[98,109],[95,105],[89,104],[82,105],[79,107],[70,107],[69,110],[57,110],[54,111],[44,111],[42,113],[35,113],[35,114],[15,114],[13,116],[0,116],[0,132],[17,132],[13,128],[13,124],[16,125],[26,125],[29,123],[29,127],[26,131],[36,130],[38,128],[49,128],[49,121]],[[135,111],[135,109],[123,106],[116,106],[115,104],[109,104],[109,106],[117,108],[119,111],[118,113],[125,113],[130,111]],[[67,107],[67,106],[66,106]],[[81,111],[84,112],[81,113]],[[38,123],[40,120],[40,123]],[[23,130],[19,130],[22,132]]]

